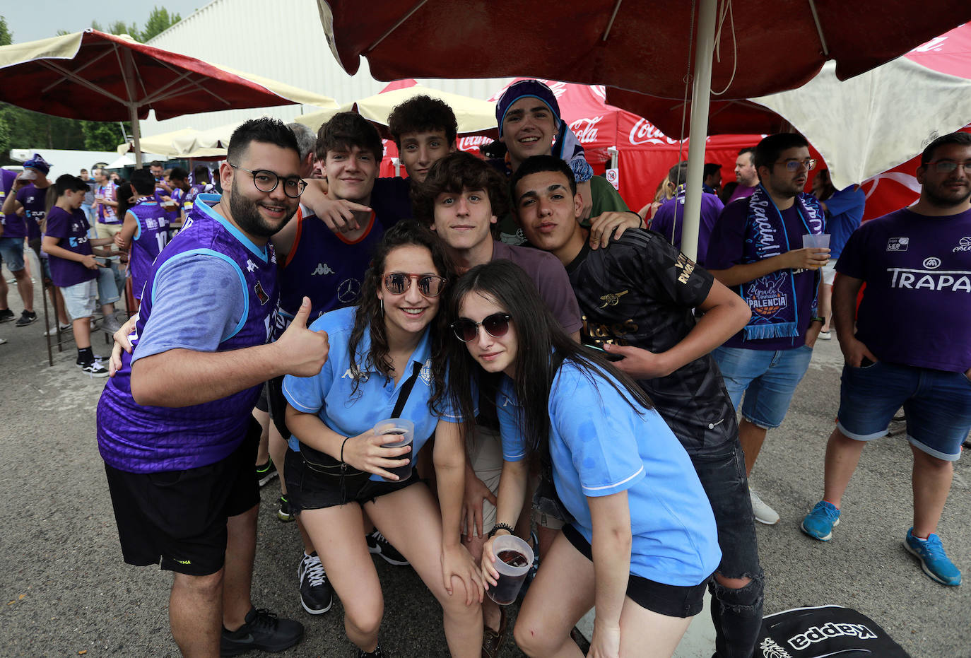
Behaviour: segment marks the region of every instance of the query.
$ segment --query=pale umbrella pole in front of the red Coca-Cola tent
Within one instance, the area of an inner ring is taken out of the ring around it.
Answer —
[[[718,0],[700,0],[698,42],[694,49],[694,87],[691,90],[691,123],[688,131],[685,214],[681,250],[698,259],[701,224],[701,185],[704,182],[705,138],[708,136],[708,102],[712,94],[712,56]],[[702,254],[704,256],[704,254]]]

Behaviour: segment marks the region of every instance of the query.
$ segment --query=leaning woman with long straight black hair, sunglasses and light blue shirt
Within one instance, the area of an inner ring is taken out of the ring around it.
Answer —
[[[588,656],[670,656],[719,565],[715,518],[687,453],[644,391],[563,333],[518,267],[494,261],[454,286],[452,408],[494,400],[503,471],[496,525],[519,518],[536,456],[574,517],[543,556],[514,631],[529,656],[581,656],[570,630],[596,607]],[[478,364],[481,368],[476,368]],[[477,374],[482,398],[471,383]],[[492,540],[483,576],[495,585]]]

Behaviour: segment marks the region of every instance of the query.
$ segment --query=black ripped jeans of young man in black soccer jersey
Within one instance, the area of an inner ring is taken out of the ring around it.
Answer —
[[[709,582],[712,620],[717,634],[716,655],[718,658],[751,658],[762,626],[765,576],[758,564],[745,456],[737,439],[730,451],[690,456],[712,504],[719,529],[721,562],[716,574],[752,579],[740,589],[724,587],[714,576]]]

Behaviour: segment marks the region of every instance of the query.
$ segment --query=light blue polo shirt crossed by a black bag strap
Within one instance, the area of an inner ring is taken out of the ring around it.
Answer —
[[[398,392],[405,381],[411,377],[414,364],[420,363],[419,378],[412,388],[408,402],[401,411],[402,418],[415,423],[415,445],[412,455],[417,455],[421,446],[432,436],[439,416],[428,407],[432,393],[431,345],[426,328],[421,341],[408,360],[408,370],[395,382],[380,372],[362,372],[357,390],[353,391],[354,378],[351,373],[351,353],[349,343],[354,326],[356,309],[349,307],[324,313],[313,324],[312,331],[326,331],[330,343],[327,362],[315,377],[284,378],[284,396],[293,409],[304,413],[317,413],[320,420],[330,429],[345,437],[355,437],[374,427],[379,420],[391,416],[398,400]],[[357,345],[355,362],[359,369],[364,368],[368,350],[371,349],[370,332],[365,331]],[[352,392],[353,391],[353,392]],[[458,422],[457,418],[446,415],[447,420]],[[296,437],[290,437],[289,445],[299,450]],[[371,479],[384,481],[381,476]]]

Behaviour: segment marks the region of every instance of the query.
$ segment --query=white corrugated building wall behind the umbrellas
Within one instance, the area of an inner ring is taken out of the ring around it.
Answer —
[[[367,3],[361,3],[367,11]],[[350,103],[381,91],[387,82],[371,78],[363,59],[357,75],[349,76],[334,59],[320,26],[316,0],[213,0],[185,16],[149,44],[182,52]],[[470,52],[470,56],[474,53]],[[511,79],[419,80],[427,86],[486,99]],[[277,116],[285,121],[313,112],[311,106],[227,110],[141,122],[146,136],[180,128],[206,130],[252,116]]]

